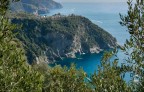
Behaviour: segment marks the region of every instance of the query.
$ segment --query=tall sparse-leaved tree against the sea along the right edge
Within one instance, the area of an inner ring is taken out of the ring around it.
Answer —
[[[134,2],[136,1],[136,2]],[[131,87],[134,91],[144,90],[144,0],[128,0],[127,15],[121,16],[120,24],[126,26],[130,39],[121,49],[125,52],[125,66],[132,74]]]

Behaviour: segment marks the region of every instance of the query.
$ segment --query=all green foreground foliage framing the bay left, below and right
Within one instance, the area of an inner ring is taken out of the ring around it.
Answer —
[[[105,53],[98,73],[88,78],[85,72],[74,65],[67,69],[49,68],[45,63],[29,66],[21,43],[12,32],[17,25],[5,17],[9,1],[0,1],[0,91],[1,92],[143,92],[144,91],[144,2],[133,5],[128,0],[128,15],[122,16],[123,26],[131,37],[121,49],[128,59],[125,65],[111,64],[109,58],[117,51]],[[132,72],[132,81],[126,84],[123,75]],[[136,78],[137,77],[137,78]]]

